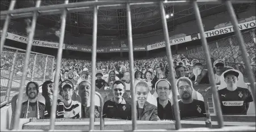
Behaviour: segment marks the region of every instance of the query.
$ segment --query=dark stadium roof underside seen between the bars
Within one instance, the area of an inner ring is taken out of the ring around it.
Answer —
[[[73,2],[82,2],[85,0],[70,0]],[[35,1],[17,1],[17,7],[33,7]],[[41,6],[56,5],[64,3],[62,0],[42,1]],[[255,3],[253,3],[255,5]],[[1,1],[1,10],[7,10],[10,0]],[[237,12],[246,11],[251,4],[234,4]],[[174,16],[167,19],[169,31],[175,29],[175,26],[195,20],[194,10],[191,5],[170,5],[165,7],[166,14],[173,13]],[[223,5],[200,5],[199,10],[202,18],[225,12]],[[126,9],[104,9],[98,10],[98,36],[112,36],[114,38],[127,37]],[[157,31],[162,30],[160,8],[155,7],[131,7],[132,33],[133,35],[156,35]],[[16,19],[24,21],[24,19]],[[37,23],[44,25],[45,28],[56,28],[59,24],[60,15],[39,16]],[[73,36],[80,34],[92,35],[93,32],[93,11],[72,12],[69,13],[66,20],[66,31]]]

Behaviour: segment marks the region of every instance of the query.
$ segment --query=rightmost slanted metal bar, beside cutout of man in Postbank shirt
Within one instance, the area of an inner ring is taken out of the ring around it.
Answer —
[[[253,96],[254,107],[256,108],[255,77],[253,76],[253,70],[251,69],[250,61],[247,57],[245,41],[242,37],[242,33],[241,33],[240,29],[238,28],[238,22],[237,22],[236,14],[234,13],[234,8],[232,6],[232,3],[230,1],[225,1],[225,4],[226,4],[226,7],[228,8],[228,13],[231,18],[231,23],[233,25],[233,29],[234,29],[234,32],[236,33],[236,37],[238,40],[238,44],[240,46],[240,50],[242,52],[242,58],[245,63],[245,71],[247,74],[247,78],[250,82],[250,90],[251,90],[250,92]]]

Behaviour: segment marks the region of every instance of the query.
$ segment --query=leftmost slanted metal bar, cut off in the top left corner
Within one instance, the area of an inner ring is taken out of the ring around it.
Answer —
[[[16,1],[11,1],[9,11],[14,9],[15,3]],[[2,54],[2,51],[3,51],[3,45],[5,45],[5,39],[6,39],[5,36],[7,33],[7,29],[9,27],[10,19],[11,19],[10,15],[6,15],[6,20],[5,20],[5,24],[3,25],[2,37],[1,37],[1,43],[0,43],[0,55]]]

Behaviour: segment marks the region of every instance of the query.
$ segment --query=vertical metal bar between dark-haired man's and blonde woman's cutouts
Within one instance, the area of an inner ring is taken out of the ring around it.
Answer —
[[[133,46],[132,46],[132,17],[131,17],[131,7],[129,3],[126,3],[126,12],[127,12],[127,30],[128,30],[128,45],[129,45],[129,68],[130,71],[134,71],[133,69]],[[133,74],[130,74],[131,80],[135,79]],[[137,109],[136,109],[136,101],[135,101],[135,84],[131,81],[131,95],[132,95],[132,130],[137,130]]]

